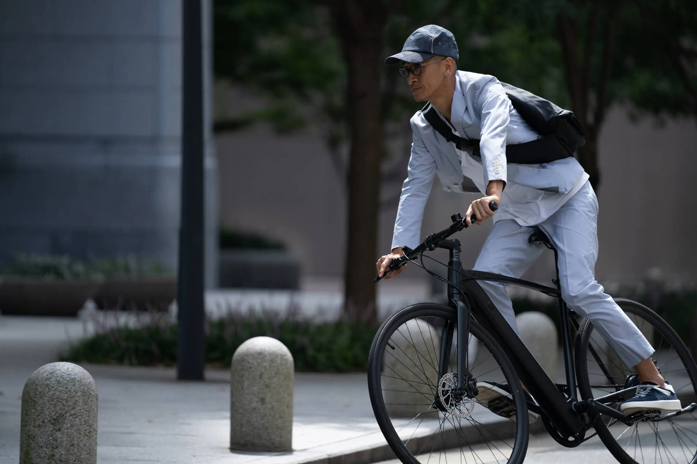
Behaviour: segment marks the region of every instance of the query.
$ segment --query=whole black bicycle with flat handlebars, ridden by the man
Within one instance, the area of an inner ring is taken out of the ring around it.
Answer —
[[[448,237],[466,227],[464,218],[455,214],[450,227],[430,234],[413,250],[404,247],[404,256],[390,265],[390,271],[407,262],[426,269],[424,252],[450,251],[448,304],[419,303],[395,312],[378,330],[370,350],[370,400],[399,460],[440,463],[445,457],[447,463],[459,456],[465,463],[521,463],[530,422],[539,417],[565,447],[598,435],[621,463],[697,463],[697,365],[671,326],[640,303],[615,299],[656,349],[652,359],[684,406],[668,414],[624,415],[620,403],[634,397],[638,376],[592,323],[562,300],[558,269],[556,288],[464,270],[461,243]],[[542,231],[535,230],[529,242],[550,248],[557,257]],[[558,298],[566,383],[547,376],[477,280]],[[532,398],[526,397],[521,381]],[[505,389],[507,403],[487,402],[491,385]]]

